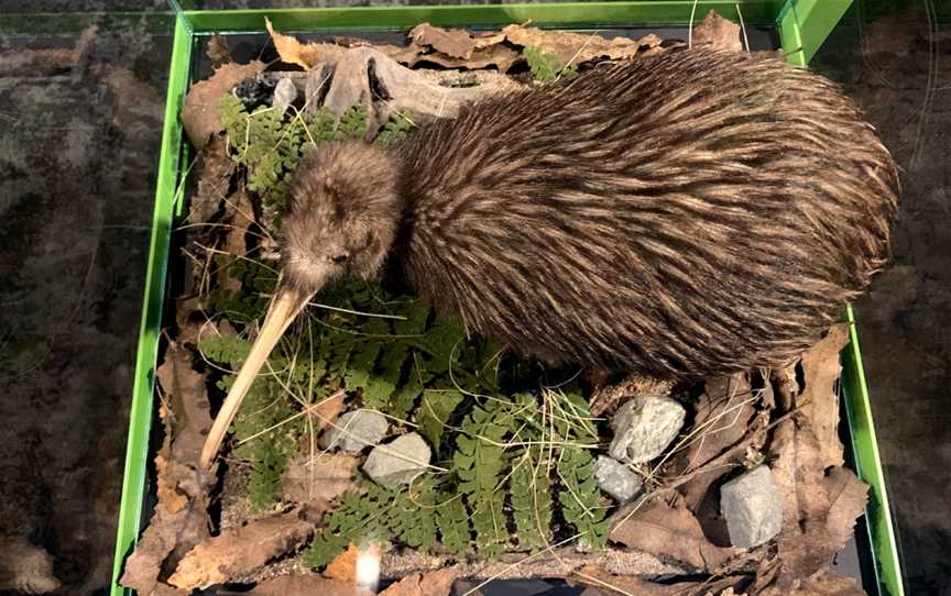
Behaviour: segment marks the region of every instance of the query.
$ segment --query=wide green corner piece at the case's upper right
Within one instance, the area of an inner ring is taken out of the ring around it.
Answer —
[[[852,0],[788,0],[776,20],[787,60],[809,64],[850,5]]]

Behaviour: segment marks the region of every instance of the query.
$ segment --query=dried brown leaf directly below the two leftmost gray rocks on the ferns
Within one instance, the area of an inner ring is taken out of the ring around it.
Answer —
[[[284,497],[294,503],[334,500],[357,488],[353,475],[359,463],[359,457],[346,453],[321,453],[313,460],[309,456],[295,457],[287,463],[281,477],[281,489]]]

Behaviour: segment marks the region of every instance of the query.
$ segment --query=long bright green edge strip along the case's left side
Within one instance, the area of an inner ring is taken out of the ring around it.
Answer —
[[[152,407],[155,389],[155,361],[158,333],[165,299],[165,278],[168,269],[168,243],[172,232],[172,212],[178,186],[182,124],[178,114],[188,88],[192,31],[178,18],[172,46],[172,65],[165,99],[165,122],[158,159],[158,179],[155,189],[155,209],[149,244],[149,265],[145,272],[145,293],[139,329],[139,349],[135,355],[135,378],[132,387],[132,408],[129,415],[129,439],[125,448],[125,471],[122,478],[122,500],[119,506],[119,528],[116,538],[116,558],[112,567],[110,594],[131,594],[119,585],[125,558],[139,540],[142,504],[145,489],[149,433],[152,428]]]

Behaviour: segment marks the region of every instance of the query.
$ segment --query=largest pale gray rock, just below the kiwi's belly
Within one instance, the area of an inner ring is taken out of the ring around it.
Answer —
[[[640,464],[657,457],[677,437],[687,415],[669,397],[638,395],[611,419],[614,439],[608,454],[621,462]]]

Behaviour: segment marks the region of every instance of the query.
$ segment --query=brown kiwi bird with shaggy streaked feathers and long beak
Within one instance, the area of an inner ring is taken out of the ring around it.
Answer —
[[[391,150],[317,147],[205,461],[309,297],[391,260],[439,313],[549,364],[686,379],[786,363],[887,262],[898,186],[834,84],[711,49],[487,98]]]

